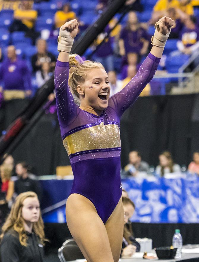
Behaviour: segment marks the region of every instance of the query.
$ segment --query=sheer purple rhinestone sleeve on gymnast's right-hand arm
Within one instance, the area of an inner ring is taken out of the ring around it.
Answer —
[[[121,116],[136,101],[142,90],[154,77],[159,61],[160,58],[149,53],[135,77],[120,92],[110,97],[108,104],[116,110],[118,116]]]

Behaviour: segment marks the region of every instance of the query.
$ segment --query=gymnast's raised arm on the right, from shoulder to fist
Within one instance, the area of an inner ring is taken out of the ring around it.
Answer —
[[[140,66],[135,77],[114,96],[109,99],[109,106],[116,110],[118,116],[121,116],[124,111],[131,106],[145,86],[153,78],[160,58],[162,56],[166,39],[170,33],[170,28],[174,25],[171,18],[163,17],[159,20],[156,34],[152,39],[152,49],[147,58]],[[160,33],[160,34],[159,34]]]

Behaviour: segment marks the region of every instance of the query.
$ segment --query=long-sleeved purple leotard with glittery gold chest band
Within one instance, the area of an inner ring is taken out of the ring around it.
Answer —
[[[74,174],[70,194],[89,199],[105,223],[121,198],[121,115],[153,78],[160,58],[149,53],[138,73],[119,93],[110,97],[100,116],[80,109],[68,86],[69,63],[57,61],[55,91],[64,147]]]

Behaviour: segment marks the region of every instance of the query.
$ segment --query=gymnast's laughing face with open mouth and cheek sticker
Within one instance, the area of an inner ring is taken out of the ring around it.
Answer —
[[[108,107],[110,85],[107,72],[102,68],[93,68],[85,76],[85,82],[77,86],[81,106],[97,111]],[[81,107],[80,106],[80,107]]]

